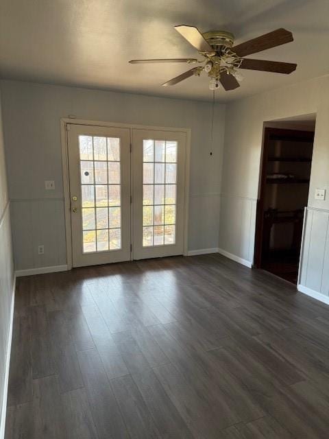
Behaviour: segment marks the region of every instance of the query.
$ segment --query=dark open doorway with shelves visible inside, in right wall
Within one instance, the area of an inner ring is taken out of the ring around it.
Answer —
[[[314,130],[315,115],[265,124],[254,267],[291,283],[297,283]]]

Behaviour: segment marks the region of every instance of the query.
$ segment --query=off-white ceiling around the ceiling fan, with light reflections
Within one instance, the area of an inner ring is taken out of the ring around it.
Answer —
[[[255,54],[297,62],[291,75],[243,71],[221,102],[329,73],[329,0],[0,0],[1,78],[165,97],[211,99],[208,80],[160,84],[191,68],[128,64],[132,58],[197,56],[174,25],[233,32],[236,43],[284,27],[293,43]]]

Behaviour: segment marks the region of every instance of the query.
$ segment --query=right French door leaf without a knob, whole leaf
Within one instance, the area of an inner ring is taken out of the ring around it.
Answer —
[[[133,131],[134,259],[182,254],[186,134]]]

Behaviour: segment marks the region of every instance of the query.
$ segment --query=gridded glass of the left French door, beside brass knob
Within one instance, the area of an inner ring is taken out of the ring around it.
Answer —
[[[120,250],[120,139],[80,136],[79,142],[83,252]]]

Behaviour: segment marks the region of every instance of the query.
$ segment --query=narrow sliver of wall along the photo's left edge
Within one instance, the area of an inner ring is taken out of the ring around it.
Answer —
[[[3,145],[0,96],[0,422],[5,385],[5,365],[8,353],[10,316],[13,300],[14,268],[10,233],[10,209],[5,176],[5,151]],[[0,437],[3,424],[0,425]]]

